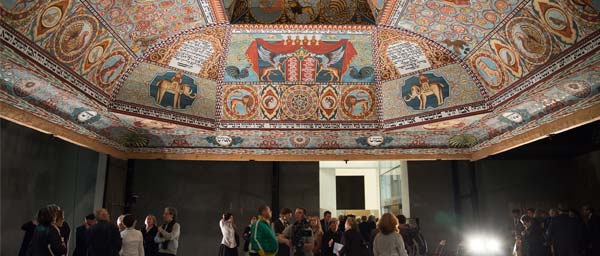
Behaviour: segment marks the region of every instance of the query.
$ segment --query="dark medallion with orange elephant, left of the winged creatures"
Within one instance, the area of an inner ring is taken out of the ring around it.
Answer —
[[[150,82],[150,96],[163,107],[185,109],[198,96],[198,86],[193,78],[182,71],[169,71],[155,76]]]

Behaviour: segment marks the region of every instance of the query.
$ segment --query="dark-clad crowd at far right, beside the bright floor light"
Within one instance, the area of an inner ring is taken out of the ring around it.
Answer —
[[[514,209],[512,215],[514,256],[600,255],[600,216],[589,205],[581,213],[559,205],[548,211]]]

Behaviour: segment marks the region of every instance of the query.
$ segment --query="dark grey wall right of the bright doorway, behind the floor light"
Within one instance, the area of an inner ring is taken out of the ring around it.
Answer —
[[[451,161],[408,162],[411,217],[421,219],[432,248],[441,239],[455,242],[477,229],[509,237],[514,208],[600,207],[600,151],[566,158],[484,159],[472,167],[456,161],[455,166],[458,204]],[[470,168],[477,193],[471,193]]]

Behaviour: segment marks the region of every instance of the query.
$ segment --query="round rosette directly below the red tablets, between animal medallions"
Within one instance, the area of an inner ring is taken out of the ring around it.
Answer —
[[[306,85],[287,88],[281,96],[281,110],[292,120],[314,120],[319,106],[315,89]]]

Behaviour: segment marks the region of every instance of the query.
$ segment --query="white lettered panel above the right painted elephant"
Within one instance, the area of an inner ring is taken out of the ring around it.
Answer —
[[[387,56],[402,75],[431,67],[427,57],[415,43],[400,41],[390,44]]]

